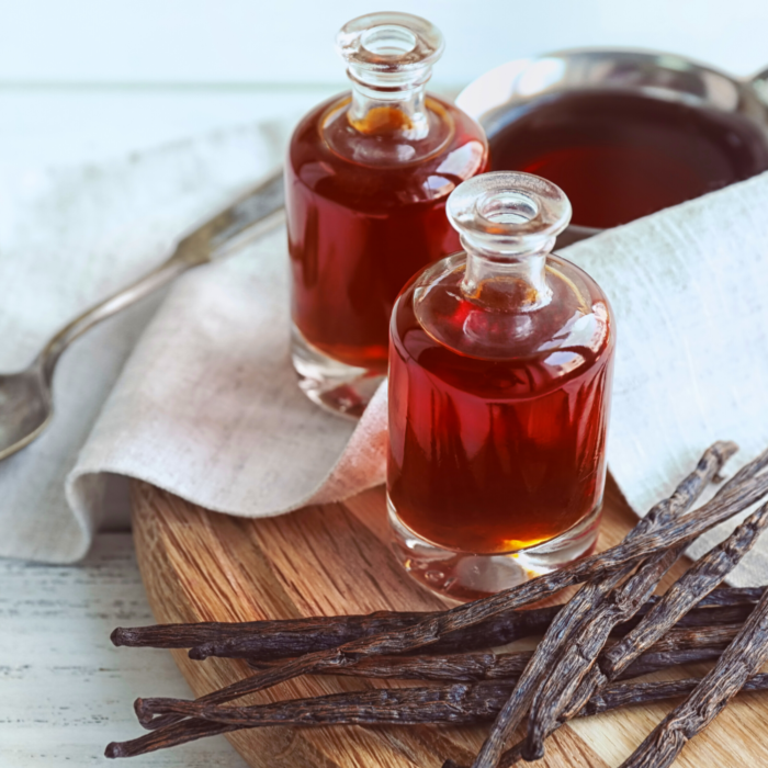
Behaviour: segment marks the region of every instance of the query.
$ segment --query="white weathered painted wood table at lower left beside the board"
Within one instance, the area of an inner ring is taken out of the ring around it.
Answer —
[[[190,697],[167,651],[115,648],[110,632],[153,623],[128,533],[97,538],[80,565],[0,560],[0,766],[105,766],[138,736],[133,701]],[[223,736],[137,758],[136,768],[244,768]]]

